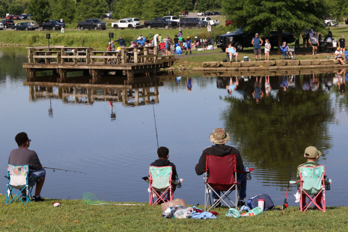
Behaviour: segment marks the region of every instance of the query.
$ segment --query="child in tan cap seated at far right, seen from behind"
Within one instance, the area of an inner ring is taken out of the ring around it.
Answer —
[[[307,147],[305,150],[304,150],[304,158],[306,158],[307,162],[305,162],[304,164],[300,164],[298,165],[297,167],[297,180],[299,180],[299,167],[301,166],[304,166],[304,167],[315,167],[315,166],[318,166],[318,164],[315,163],[316,159],[321,156],[321,152],[318,151],[316,149],[316,147],[313,147],[313,146],[310,146],[310,147]],[[321,193],[318,194],[318,196],[316,197],[315,199],[315,202],[318,206],[320,206],[321,208]],[[305,194],[302,193],[302,206],[305,206]]]

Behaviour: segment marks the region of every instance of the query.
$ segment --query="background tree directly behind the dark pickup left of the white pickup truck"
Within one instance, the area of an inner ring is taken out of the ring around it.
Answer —
[[[81,0],[76,7],[76,19],[100,18],[107,10],[105,0]]]

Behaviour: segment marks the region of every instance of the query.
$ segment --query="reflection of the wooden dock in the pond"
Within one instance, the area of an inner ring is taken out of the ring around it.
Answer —
[[[37,78],[36,78],[37,79]],[[47,79],[43,77],[43,79]],[[88,83],[54,83],[43,81],[26,81],[29,86],[29,100],[62,99],[63,103],[93,104],[94,101],[122,102],[123,106],[138,106],[158,103],[158,86],[163,83],[154,80],[138,80],[132,84],[114,84],[109,80]]]

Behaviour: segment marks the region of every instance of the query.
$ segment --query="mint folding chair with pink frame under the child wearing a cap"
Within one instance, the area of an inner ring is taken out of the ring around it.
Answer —
[[[315,167],[299,167],[299,181],[290,181],[290,184],[299,183],[300,191],[300,200],[299,200],[299,209],[301,212],[304,212],[308,209],[311,204],[314,204],[322,212],[326,211],[326,202],[325,202],[325,184],[331,184],[331,180],[325,180],[325,168],[323,165],[318,165]],[[319,207],[315,200],[321,193],[322,207]],[[302,194],[309,198],[308,203],[302,207]],[[313,195],[311,198],[309,195]]]

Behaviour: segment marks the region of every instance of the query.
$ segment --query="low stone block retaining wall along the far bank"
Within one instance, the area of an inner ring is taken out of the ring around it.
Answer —
[[[263,60],[245,62],[203,62],[202,67],[192,68],[192,71],[225,72],[225,71],[270,71],[303,70],[318,68],[348,68],[348,64],[338,64],[337,60]]]

